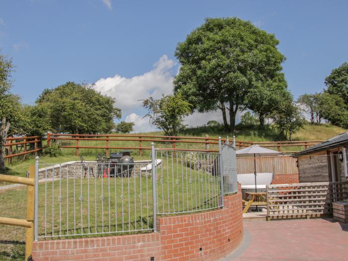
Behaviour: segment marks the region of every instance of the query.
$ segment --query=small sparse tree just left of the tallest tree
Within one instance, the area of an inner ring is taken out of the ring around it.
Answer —
[[[145,117],[149,117],[150,123],[168,136],[177,136],[184,127],[184,117],[192,112],[191,104],[184,100],[180,93],[162,95],[160,99],[149,97],[143,100],[143,106],[148,109]]]

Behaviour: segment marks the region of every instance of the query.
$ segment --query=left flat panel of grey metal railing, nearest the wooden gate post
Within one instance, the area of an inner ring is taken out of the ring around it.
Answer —
[[[152,231],[149,163],[39,164],[37,238]]]

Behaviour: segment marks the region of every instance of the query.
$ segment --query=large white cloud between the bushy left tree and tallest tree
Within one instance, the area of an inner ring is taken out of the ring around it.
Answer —
[[[162,93],[166,95],[173,91],[171,70],[174,66],[175,62],[167,55],[163,55],[150,72],[132,78],[116,74],[114,77],[98,80],[93,87],[103,94],[116,98],[117,107],[122,109],[124,115],[129,115],[142,108],[139,100],[149,96],[157,99]]]

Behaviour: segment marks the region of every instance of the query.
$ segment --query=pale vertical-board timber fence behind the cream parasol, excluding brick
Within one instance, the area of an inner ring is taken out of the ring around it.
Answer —
[[[253,157],[237,158],[238,174],[254,173]],[[290,156],[257,157],[256,171],[258,173],[297,174],[297,159]]]

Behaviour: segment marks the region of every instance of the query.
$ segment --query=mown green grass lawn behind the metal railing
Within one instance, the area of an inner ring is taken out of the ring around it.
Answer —
[[[218,176],[193,165],[190,168],[184,155],[177,153],[176,156],[169,155],[169,160],[163,160],[157,168],[158,213],[197,212],[218,207]],[[61,157],[60,160],[67,159]],[[210,162],[214,164],[214,158]],[[74,172],[75,179],[48,178],[47,182],[39,183],[39,236],[71,238],[73,235],[124,234],[153,228],[151,175],[80,178],[80,169]],[[16,205],[8,203],[16,198],[21,199]],[[2,215],[24,218],[25,198],[26,189],[23,188],[0,192],[1,202],[6,202],[2,205]],[[0,235],[4,235],[2,232],[0,227]]]

